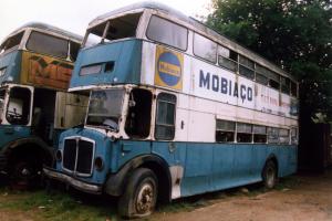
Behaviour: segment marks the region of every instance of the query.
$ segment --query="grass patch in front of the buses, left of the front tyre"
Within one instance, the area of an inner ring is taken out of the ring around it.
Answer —
[[[35,220],[120,220],[116,217],[116,203],[103,197],[97,199],[93,196],[76,196],[59,190],[49,194],[45,190],[28,192],[8,188],[0,189],[0,209],[32,213]]]

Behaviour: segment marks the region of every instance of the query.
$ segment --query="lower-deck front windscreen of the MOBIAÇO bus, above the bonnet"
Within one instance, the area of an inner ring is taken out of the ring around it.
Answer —
[[[117,130],[124,94],[123,88],[91,92],[86,125]]]

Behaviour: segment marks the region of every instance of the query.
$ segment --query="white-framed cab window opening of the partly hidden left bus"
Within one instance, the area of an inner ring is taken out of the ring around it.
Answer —
[[[6,118],[12,125],[27,125],[30,117],[31,92],[28,88],[12,87]]]

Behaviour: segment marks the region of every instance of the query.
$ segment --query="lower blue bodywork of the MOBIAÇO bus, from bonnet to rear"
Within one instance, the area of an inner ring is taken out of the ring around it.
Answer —
[[[96,156],[105,161],[103,171],[94,170],[90,178],[79,178],[90,183],[103,185],[108,173],[116,173],[125,164],[142,155],[155,155],[170,166],[181,166],[184,178],[180,183],[181,197],[238,187],[261,181],[261,171],[267,159],[274,156],[279,164],[279,177],[295,172],[297,146],[259,144],[207,144],[168,141],[116,140],[93,129],[69,129],[63,138],[83,136],[96,141]],[[61,164],[56,169],[62,171]]]

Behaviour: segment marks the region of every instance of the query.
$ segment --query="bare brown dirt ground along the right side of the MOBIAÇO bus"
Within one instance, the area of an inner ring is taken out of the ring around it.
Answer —
[[[332,170],[297,176],[293,189],[229,197],[190,212],[159,213],[153,220],[325,221],[332,220]]]

